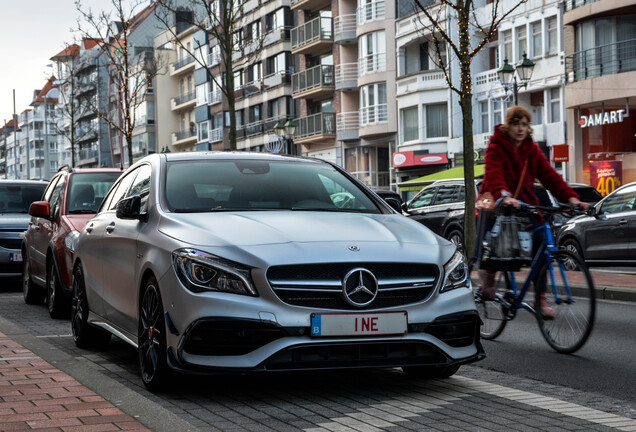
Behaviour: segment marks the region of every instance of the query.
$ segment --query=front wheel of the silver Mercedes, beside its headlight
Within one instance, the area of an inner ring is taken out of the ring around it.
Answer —
[[[169,378],[166,347],[166,322],[159,284],[154,277],[144,285],[139,305],[138,326],[139,372],[144,386],[160,390]]]

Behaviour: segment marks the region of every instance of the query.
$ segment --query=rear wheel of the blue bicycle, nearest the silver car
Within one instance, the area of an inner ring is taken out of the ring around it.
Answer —
[[[479,334],[483,339],[493,340],[501,334],[508,320],[501,303],[503,295],[510,290],[510,276],[508,272],[497,272],[495,275],[497,297],[495,300],[484,300],[481,296],[479,284],[473,285],[475,304],[481,318]]]

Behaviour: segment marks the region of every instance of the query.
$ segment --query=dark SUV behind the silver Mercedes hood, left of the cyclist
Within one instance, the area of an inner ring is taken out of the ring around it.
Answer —
[[[476,181],[475,195],[481,180]],[[464,243],[464,179],[439,180],[426,186],[403,210],[408,217],[435,234],[462,245]]]

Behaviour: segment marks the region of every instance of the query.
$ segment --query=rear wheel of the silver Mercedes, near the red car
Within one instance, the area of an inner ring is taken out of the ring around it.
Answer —
[[[105,349],[110,342],[110,333],[88,323],[88,299],[84,272],[78,266],[73,275],[73,300],[71,301],[71,330],[73,341],[79,348]]]

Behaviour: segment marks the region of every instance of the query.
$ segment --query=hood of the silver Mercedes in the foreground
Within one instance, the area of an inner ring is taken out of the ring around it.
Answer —
[[[439,237],[430,230],[398,214],[311,211],[171,214],[162,218],[159,231],[193,246],[314,242],[439,244]]]

